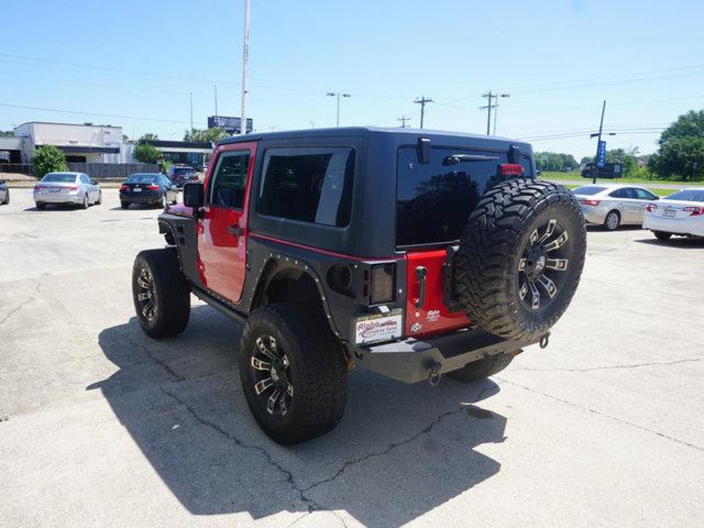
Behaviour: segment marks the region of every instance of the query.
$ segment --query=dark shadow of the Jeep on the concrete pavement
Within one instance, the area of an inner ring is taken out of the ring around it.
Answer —
[[[239,386],[239,334],[213,308],[193,306],[189,327],[174,339],[146,337],[136,318],[99,335],[119,370],[87,389],[102,391],[190,513],[260,519],[344,510],[365,525],[396,527],[500,470],[473,449],[505,439],[505,417],[474,405],[498,392],[489,380],[431,387],[353,370],[337,429],[296,446],[275,444]]]

